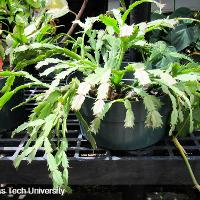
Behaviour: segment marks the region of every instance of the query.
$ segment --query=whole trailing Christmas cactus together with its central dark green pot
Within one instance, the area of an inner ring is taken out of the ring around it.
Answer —
[[[54,187],[70,192],[66,120],[74,111],[93,148],[99,145],[133,150],[152,145],[169,135],[180,150],[195,187],[200,190],[186,153],[177,140],[183,130],[188,128],[190,133],[200,125],[195,114],[200,105],[200,66],[171,49],[166,53],[176,61],[155,66],[159,63],[155,51],[159,44],[149,43],[146,34],[155,29],[174,28],[179,21],[166,18],[127,25],[129,13],[143,2],[155,3],[162,8],[156,1],[141,0],[127,9],[114,9],[108,14],[87,18],[85,23],[76,20],[74,23],[78,23],[83,31],[81,37],[73,40],[72,50],[54,49],[63,52],[68,59],[46,58],[37,64],[37,68],[43,68],[52,62],[54,66],[41,76],[52,72],[57,72],[57,75],[51,83],[41,83],[46,91],[34,97],[37,106],[29,121],[13,132],[15,135],[27,130],[29,135],[23,152],[15,160],[15,167],[25,157],[31,162],[37,150],[44,147]],[[102,23],[105,28],[96,30],[93,28],[95,23]],[[143,62],[122,66],[130,48],[142,53]],[[60,85],[61,80],[73,72],[81,72],[81,76],[75,74],[74,78],[68,78],[66,85]],[[12,74],[24,76],[24,72]],[[2,72],[0,75],[10,76],[10,73]],[[177,127],[178,132],[174,132]],[[56,145],[52,141],[55,136],[59,138]]]

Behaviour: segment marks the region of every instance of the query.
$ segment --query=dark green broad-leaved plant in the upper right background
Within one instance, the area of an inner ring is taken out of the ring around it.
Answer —
[[[165,16],[158,13],[152,14],[152,19],[162,19]],[[186,18],[181,21],[180,24],[175,26],[175,29],[166,29],[165,31],[156,30],[151,35],[151,41],[163,40],[167,42],[169,46],[174,46],[177,51],[183,51],[188,54],[199,52],[199,31],[200,21],[198,21],[198,12],[192,12],[189,8],[178,8],[171,15],[170,19],[173,18]],[[191,18],[196,19],[191,20]]]

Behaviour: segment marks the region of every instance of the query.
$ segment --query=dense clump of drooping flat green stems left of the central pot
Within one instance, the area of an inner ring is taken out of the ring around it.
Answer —
[[[48,91],[42,93],[42,96],[37,100],[37,106],[33,109],[29,122],[25,122],[13,132],[13,136],[25,130],[29,134],[29,140],[23,152],[14,162],[15,167],[18,167],[25,157],[28,157],[28,161],[31,162],[37,150],[44,147],[54,187],[64,188],[68,192],[71,189],[68,187],[69,164],[66,156],[68,149],[66,120],[77,86],[78,81],[73,80],[68,90],[55,88],[48,96]],[[58,138],[62,137],[56,148],[51,140],[54,134]],[[37,140],[35,140],[36,138]],[[30,146],[33,141],[35,141],[34,145]],[[53,156],[53,153],[55,153],[55,156]]]

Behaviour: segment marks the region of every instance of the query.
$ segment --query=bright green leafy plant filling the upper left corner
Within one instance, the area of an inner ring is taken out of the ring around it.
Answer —
[[[0,42],[3,46],[0,45],[0,56],[9,56],[12,68],[19,70],[20,65],[20,69],[23,69],[56,54],[55,51],[47,53],[45,49],[32,49],[15,55],[15,49],[25,44],[57,43],[56,27],[52,21],[69,12],[67,1],[60,2],[59,6],[58,3],[55,0],[8,0],[1,3],[0,8],[5,12],[0,12],[0,24],[4,24],[5,28],[1,30]]]

